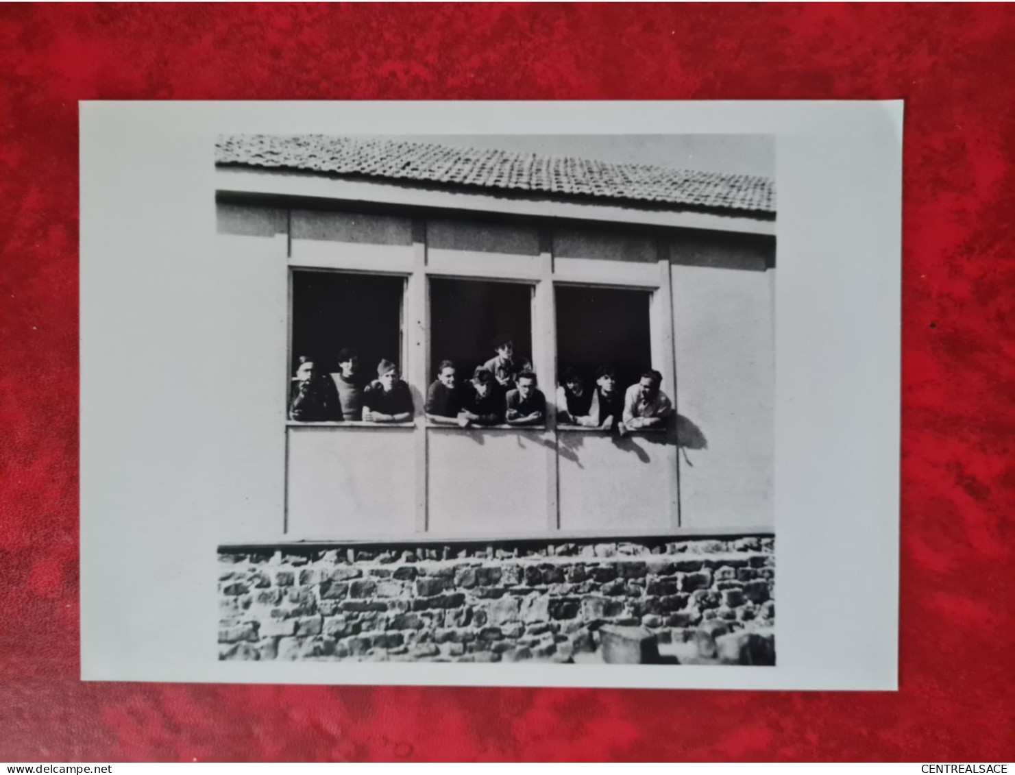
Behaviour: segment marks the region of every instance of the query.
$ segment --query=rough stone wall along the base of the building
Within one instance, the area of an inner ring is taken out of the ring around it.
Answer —
[[[725,661],[770,663],[773,544],[222,547],[219,658],[583,661],[618,625],[683,654],[669,661],[688,661],[684,643],[697,644],[691,660],[719,658],[713,639],[729,633],[753,645],[728,642]]]

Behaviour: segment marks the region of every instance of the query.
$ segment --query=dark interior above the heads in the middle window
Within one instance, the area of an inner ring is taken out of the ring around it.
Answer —
[[[476,366],[496,356],[493,342],[501,334],[511,335],[516,362],[531,362],[531,285],[430,280],[431,372],[441,361],[451,360],[464,382]]]

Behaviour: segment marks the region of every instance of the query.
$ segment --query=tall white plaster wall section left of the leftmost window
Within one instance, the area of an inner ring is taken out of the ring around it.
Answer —
[[[223,538],[277,536],[285,492],[288,315],[284,210],[220,204],[208,267],[207,423]],[[227,314],[221,310],[228,310]],[[192,418],[201,423],[202,418]],[[166,476],[172,476],[166,472]]]

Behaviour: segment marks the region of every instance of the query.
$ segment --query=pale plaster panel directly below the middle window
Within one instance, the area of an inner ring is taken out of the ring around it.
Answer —
[[[429,532],[545,533],[550,442],[544,431],[428,428]]]

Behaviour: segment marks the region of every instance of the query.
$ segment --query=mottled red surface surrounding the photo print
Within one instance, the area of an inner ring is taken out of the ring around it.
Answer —
[[[0,760],[1015,758],[1015,6],[7,4],[0,36]],[[77,100],[898,97],[898,693],[78,681]]]

